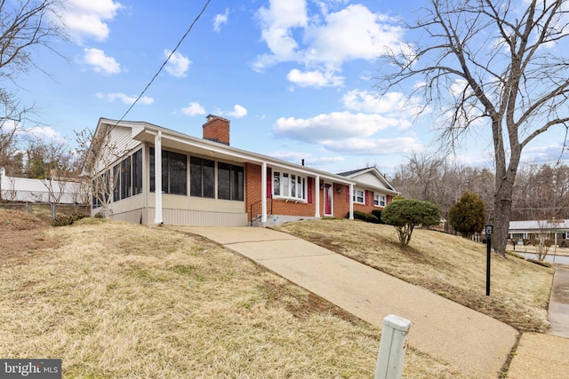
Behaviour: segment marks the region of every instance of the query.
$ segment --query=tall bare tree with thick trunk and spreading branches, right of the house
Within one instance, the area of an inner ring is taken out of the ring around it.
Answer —
[[[568,128],[569,35],[563,0],[430,0],[413,29],[424,37],[388,57],[378,82],[389,91],[419,79],[413,95],[448,116],[442,136],[460,141],[492,130],[493,241],[505,254],[512,191],[522,151],[552,127]],[[426,41],[428,40],[428,41]],[[565,143],[566,145],[566,134]]]

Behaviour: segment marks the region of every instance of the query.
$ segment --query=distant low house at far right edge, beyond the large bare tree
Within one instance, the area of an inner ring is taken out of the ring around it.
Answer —
[[[569,220],[529,220],[529,221],[510,221],[509,240],[523,241],[535,240],[540,235],[550,235],[550,239],[563,244],[567,244],[569,234]]]

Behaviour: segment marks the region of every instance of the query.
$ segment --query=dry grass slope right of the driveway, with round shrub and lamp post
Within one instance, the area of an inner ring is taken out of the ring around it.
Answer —
[[[553,269],[495,254],[491,296],[485,296],[485,245],[457,236],[415,230],[402,249],[393,226],[361,221],[318,220],[275,227],[429,288],[520,331],[544,332]]]

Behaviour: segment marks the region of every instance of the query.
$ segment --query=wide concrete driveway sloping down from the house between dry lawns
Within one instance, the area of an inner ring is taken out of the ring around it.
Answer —
[[[216,241],[378,327],[389,314],[411,320],[411,345],[472,377],[498,377],[516,343],[516,329],[501,321],[289,234],[171,228]]]

